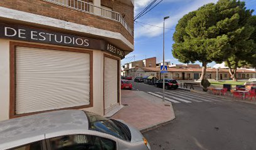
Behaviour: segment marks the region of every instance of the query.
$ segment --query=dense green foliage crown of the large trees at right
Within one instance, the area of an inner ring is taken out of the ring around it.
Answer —
[[[173,35],[173,56],[182,63],[195,61],[232,66],[256,66],[256,17],[245,2],[219,0],[183,16]]]

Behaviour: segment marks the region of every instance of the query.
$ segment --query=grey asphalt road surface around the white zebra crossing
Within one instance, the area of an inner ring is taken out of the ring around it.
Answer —
[[[133,87],[151,93],[163,91],[143,83],[133,83]],[[176,119],[144,133],[152,149],[256,149],[256,105],[218,99],[202,101],[203,96],[194,97],[193,93],[181,89],[168,90],[168,93],[201,102],[173,103]]]

